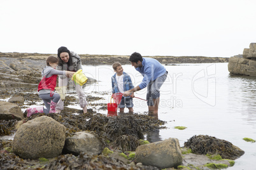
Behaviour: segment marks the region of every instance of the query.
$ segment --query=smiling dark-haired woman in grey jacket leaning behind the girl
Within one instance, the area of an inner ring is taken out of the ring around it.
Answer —
[[[57,55],[59,58],[59,63],[57,67],[58,70],[68,70],[71,72],[76,72],[79,69],[82,69],[80,56],[73,51],[69,51],[68,48],[61,46],[58,49]],[[65,75],[59,76],[59,87],[67,86],[68,82],[69,77],[66,77]],[[87,113],[87,101],[85,93],[83,92],[83,88],[79,84],[76,84],[75,81],[73,81],[73,85],[75,86],[76,93],[79,98],[80,107],[83,108],[83,113]],[[64,102],[62,100],[59,100],[59,103],[57,104],[56,108],[59,110],[63,110]]]

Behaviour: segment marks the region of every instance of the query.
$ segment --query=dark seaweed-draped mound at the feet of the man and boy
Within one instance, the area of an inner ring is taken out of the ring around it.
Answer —
[[[108,140],[113,148],[125,152],[138,147],[138,140],[144,139],[143,133],[160,129],[160,125],[164,123],[148,115],[125,114],[122,117],[106,117],[96,114],[90,116],[90,120],[82,129],[94,131],[99,138],[102,138],[103,143],[104,140]]]

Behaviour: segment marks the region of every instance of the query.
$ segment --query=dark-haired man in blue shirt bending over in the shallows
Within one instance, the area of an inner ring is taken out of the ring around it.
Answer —
[[[129,58],[132,66],[143,75],[143,80],[139,86],[124,92],[124,96],[148,87],[146,100],[148,104],[148,114],[158,117],[158,106],[160,87],[166,81],[167,71],[164,66],[153,58],[143,57],[139,53],[132,53]]]

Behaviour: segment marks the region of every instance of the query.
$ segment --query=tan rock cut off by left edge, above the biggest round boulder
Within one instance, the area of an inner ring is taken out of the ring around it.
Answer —
[[[24,119],[22,110],[15,103],[0,101],[0,120]]]

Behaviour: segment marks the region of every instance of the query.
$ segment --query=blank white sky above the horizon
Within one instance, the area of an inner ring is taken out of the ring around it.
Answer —
[[[1,0],[0,52],[222,56],[256,42],[255,0]]]

